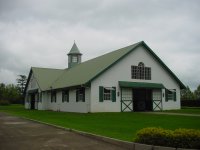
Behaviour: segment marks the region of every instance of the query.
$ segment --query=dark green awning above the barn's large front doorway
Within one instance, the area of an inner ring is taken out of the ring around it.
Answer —
[[[153,88],[153,89],[165,88],[161,83],[128,82],[128,81],[119,81],[119,86],[127,88]]]

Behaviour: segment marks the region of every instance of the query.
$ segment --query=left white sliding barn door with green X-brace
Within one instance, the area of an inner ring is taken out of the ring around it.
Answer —
[[[133,94],[132,89],[121,89],[121,112],[133,111]]]

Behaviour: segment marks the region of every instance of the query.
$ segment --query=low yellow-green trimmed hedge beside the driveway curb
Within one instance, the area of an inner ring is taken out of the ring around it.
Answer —
[[[137,132],[137,143],[175,148],[200,148],[200,130],[144,128]]]

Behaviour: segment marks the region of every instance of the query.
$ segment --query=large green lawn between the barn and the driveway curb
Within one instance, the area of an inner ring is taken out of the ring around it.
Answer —
[[[136,112],[80,114],[25,110],[21,105],[0,106],[0,111],[126,141],[133,141],[135,133],[145,127],[200,129],[200,117],[193,116]]]

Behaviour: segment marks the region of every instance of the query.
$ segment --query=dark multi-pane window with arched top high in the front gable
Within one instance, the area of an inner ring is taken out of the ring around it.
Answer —
[[[132,79],[151,80],[151,68],[145,67],[143,62],[140,62],[138,66],[131,66]]]

